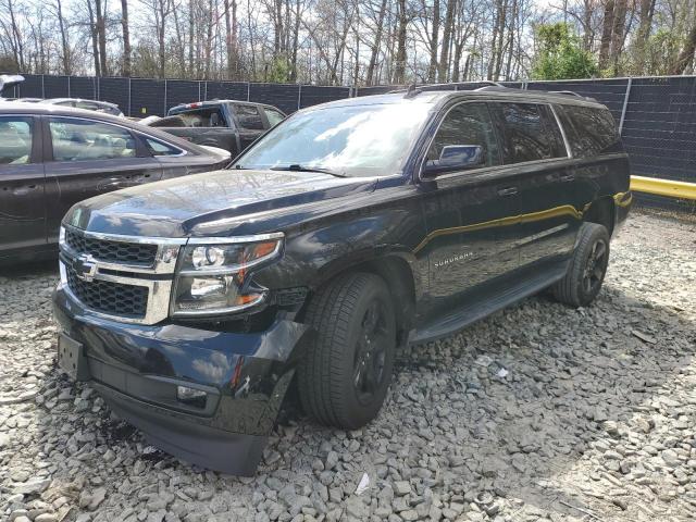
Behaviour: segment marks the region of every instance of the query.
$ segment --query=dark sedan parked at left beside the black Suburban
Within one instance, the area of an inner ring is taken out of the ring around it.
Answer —
[[[77,201],[227,163],[225,151],[122,117],[0,101],[0,264],[55,257],[61,219]]]

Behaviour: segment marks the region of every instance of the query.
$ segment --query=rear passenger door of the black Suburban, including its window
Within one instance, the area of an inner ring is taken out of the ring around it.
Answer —
[[[520,266],[562,261],[573,250],[582,209],[572,204],[571,160],[551,108],[496,102],[506,164],[515,165],[520,200]]]

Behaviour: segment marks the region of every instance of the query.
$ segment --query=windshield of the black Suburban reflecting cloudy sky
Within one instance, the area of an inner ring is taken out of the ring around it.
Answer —
[[[344,176],[396,174],[430,104],[331,107],[300,112],[253,145],[233,167],[326,170]]]

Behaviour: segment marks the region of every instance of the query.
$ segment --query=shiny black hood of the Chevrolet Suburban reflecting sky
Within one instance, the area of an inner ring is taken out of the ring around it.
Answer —
[[[149,237],[206,235],[201,228],[214,236],[256,234],[271,232],[264,222],[274,214],[371,192],[374,186],[374,178],[322,173],[213,171],[87,199],[70,209],[63,222],[90,232]],[[228,226],[209,226],[215,222]]]

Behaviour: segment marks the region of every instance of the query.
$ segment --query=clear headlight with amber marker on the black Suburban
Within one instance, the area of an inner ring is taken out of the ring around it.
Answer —
[[[216,315],[261,303],[266,290],[251,283],[250,271],[278,258],[282,249],[282,233],[189,241],[177,270],[173,315]]]

